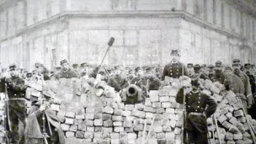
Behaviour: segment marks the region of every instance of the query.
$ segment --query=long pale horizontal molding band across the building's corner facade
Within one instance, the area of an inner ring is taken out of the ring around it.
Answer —
[[[36,24],[29,25],[24,29],[20,29],[16,32],[15,35],[9,36],[3,40],[0,40],[0,43],[6,40],[12,40],[15,37],[20,35],[26,35],[27,33],[44,27],[45,24],[53,24],[60,20],[68,20],[68,19],[76,19],[76,18],[136,18],[136,17],[144,17],[144,18],[181,18],[187,20],[191,23],[198,24],[205,29],[214,30],[217,33],[222,35],[227,35],[227,37],[236,38],[240,40],[247,40],[247,38],[243,37],[240,34],[234,34],[231,30],[223,29],[219,26],[214,24],[210,24],[205,22],[205,20],[195,17],[191,13],[187,13],[185,11],[166,11],[166,10],[157,10],[157,11],[138,11],[138,10],[131,10],[131,11],[97,11],[97,12],[84,12],[84,11],[65,11],[54,16],[51,16],[48,19],[41,20]],[[252,40],[248,40],[252,41]],[[256,43],[256,41],[253,41]]]

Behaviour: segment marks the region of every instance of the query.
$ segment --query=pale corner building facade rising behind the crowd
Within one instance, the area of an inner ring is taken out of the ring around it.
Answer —
[[[1,0],[0,61],[49,69],[64,58],[105,65],[156,66],[179,49],[181,61],[255,63],[253,0]]]

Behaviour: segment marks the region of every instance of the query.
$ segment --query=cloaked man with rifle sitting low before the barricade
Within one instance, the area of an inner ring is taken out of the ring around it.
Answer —
[[[45,104],[35,100],[29,109],[27,125],[24,131],[25,144],[45,143],[43,136],[49,144],[64,144],[65,136],[61,130],[60,120],[56,113],[49,108],[49,102],[45,99]],[[43,114],[45,113],[45,115]],[[45,121],[43,120],[45,116]],[[45,122],[45,133],[44,133]]]

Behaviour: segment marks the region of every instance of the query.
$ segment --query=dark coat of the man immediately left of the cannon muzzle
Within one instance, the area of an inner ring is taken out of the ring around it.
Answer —
[[[108,85],[115,88],[115,91],[119,92],[122,88],[128,86],[128,80],[125,77],[120,76],[110,77]]]

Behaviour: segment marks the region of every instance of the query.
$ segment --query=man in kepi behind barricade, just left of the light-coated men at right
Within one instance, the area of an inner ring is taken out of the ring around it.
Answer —
[[[221,84],[224,83],[225,76],[224,76],[222,68],[223,68],[222,67],[222,62],[221,61],[216,61],[216,63],[215,63],[215,74],[211,79],[212,83],[215,83],[215,82],[219,82]]]

